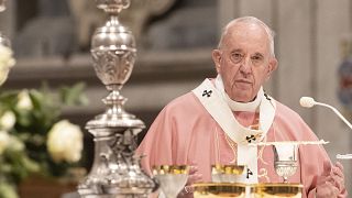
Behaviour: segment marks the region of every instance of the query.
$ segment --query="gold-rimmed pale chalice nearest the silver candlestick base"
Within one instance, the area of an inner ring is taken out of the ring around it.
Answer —
[[[188,172],[188,165],[153,166],[153,175],[158,180],[161,189],[167,198],[177,197],[187,183]]]

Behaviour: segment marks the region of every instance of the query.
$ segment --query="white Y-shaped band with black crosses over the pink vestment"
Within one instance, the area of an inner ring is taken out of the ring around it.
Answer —
[[[206,79],[200,86],[193,90],[201,105],[218,122],[224,133],[238,144],[238,165],[245,165],[246,172],[239,176],[239,183],[257,183],[257,146],[250,146],[249,143],[261,142],[271,128],[276,105],[274,99],[266,96],[260,103],[258,130],[244,128],[234,118],[229,105],[226,102],[221,92]]]

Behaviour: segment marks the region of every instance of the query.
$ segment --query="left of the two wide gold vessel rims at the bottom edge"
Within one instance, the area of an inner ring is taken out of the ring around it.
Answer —
[[[195,187],[194,197],[245,197],[245,184],[240,183],[198,183]]]

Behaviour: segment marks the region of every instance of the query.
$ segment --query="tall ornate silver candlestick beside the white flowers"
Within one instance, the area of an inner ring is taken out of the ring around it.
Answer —
[[[155,183],[142,172],[134,157],[136,134],[144,123],[123,109],[120,94],[130,78],[136,50],[131,31],[118,19],[130,0],[96,0],[109,14],[91,40],[91,56],[97,76],[109,90],[102,101],[106,111],[90,120],[86,129],[95,136],[95,160],[88,176],[79,184],[81,197],[146,197]]]

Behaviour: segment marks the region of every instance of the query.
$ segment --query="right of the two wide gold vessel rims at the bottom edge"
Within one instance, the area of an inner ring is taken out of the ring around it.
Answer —
[[[251,186],[253,198],[301,198],[304,186],[298,183],[266,183]]]

